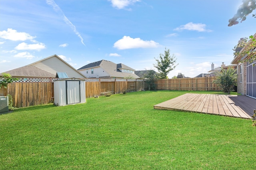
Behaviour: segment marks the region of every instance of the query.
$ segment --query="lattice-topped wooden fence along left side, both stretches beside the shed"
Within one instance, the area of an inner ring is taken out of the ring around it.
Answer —
[[[54,83],[57,78],[20,78],[9,83],[7,89],[0,88],[0,96],[10,94],[14,107],[48,104],[54,100]],[[86,98],[104,95],[110,91],[120,94],[144,89],[144,79],[85,79]]]

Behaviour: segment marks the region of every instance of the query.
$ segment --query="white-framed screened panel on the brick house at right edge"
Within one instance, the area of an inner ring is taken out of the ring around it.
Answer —
[[[253,64],[255,64],[253,66]],[[256,98],[256,61],[246,64],[246,96]]]

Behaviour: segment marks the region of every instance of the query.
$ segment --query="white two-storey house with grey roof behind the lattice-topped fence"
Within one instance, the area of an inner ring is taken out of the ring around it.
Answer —
[[[134,69],[122,63],[101,60],[78,68],[78,71],[88,78],[140,78],[134,74]]]

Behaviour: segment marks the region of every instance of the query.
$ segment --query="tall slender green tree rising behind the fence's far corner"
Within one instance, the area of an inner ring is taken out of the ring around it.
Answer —
[[[166,79],[167,74],[172,71],[178,64],[176,63],[176,57],[174,54],[170,56],[170,49],[164,50],[164,54],[159,55],[160,59],[156,59],[156,64],[153,64],[155,68],[157,68],[159,74],[160,74],[160,79]]]

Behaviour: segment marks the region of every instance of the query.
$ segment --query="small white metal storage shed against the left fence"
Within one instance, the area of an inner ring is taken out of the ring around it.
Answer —
[[[65,78],[54,81],[54,105],[84,103],[85,80],[78,78]]]

